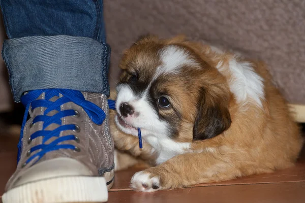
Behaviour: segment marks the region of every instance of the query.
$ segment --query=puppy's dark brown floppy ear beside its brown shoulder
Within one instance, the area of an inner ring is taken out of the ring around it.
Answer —
[[[200,90],[197,119],[193,127],[193,141],[210,139],[227,130],[231,125],[228,99]]]

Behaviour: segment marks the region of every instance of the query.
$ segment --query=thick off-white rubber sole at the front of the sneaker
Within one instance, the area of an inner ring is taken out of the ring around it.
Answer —
[[[114,170],[103,177],[69,176],[44,179],[10,189],[3,203],[106,202],[113,185]]]

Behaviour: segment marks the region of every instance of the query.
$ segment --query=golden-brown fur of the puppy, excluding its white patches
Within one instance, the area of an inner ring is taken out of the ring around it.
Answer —
[[[228,86],[232,77],[230,72],[224,70],[220,74],[216,69],[221,60],[224,67],[228,66],[232,57],[230,53],[211,53],[209,46],[185,41],[180,36],[170,40],[143,37],[125,52],[120,66],[130,71],[134,68],[131,65],[133,62],[145,63],[148,64],[147,71],[154,70],[160,63],[156,57],[157,50],[168,44],[187,49],[204,68],[186,69],[183,76],[159,81],[162,85],[157,88],[173,92],[171,95],[176,97],[172,99],[173,106],[181,114],[178,133],[173,139],[176,142],[192,142],[188,153],[177,155],[144,171],[150,173],[150,177],[160,178],[160,188],[173,189],[271,173],[293,165],[302,147],[302,138],[289,114],[285,99],[272,85],[272,79],[262,62],[251,61],[256,73],[264,79],[262,108],[251,100],[242,107],[237,104]],[[142,52],[145,47],[150,47],[150,50]],[[143,55],[139,56],[141,53]],[[135,55],[139,56],[138,61],[134,61]],[[126,77],[125,74],[122,78]],[[192,85],[186,81],[192,81]],[[194,101],[197,101],[197,105]],[[173,114],[171,110],[159,113]],[[144,143],[143,149],[139,149],[137,138],[116,129],[113,115],[114,112],[110,116],[115,146],[135,157],[154,162],[152,147]],[[216,121],[220,126],[215,132]]]

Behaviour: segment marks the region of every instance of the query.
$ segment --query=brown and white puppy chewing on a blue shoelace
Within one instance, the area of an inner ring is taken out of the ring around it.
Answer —
[[[115,145],[156,165],[133,176],[135,190],[271,173],[297,159],[299,129],[263,63],[182,37],[145,36],[120,67]]]

